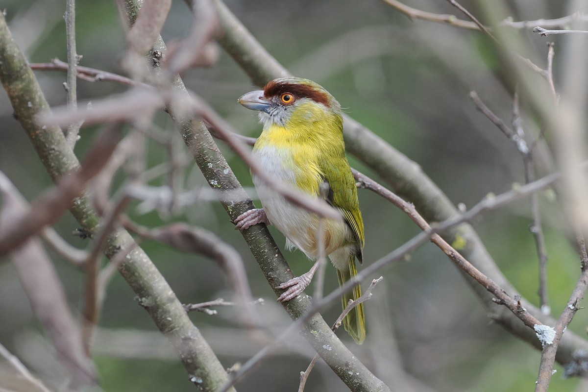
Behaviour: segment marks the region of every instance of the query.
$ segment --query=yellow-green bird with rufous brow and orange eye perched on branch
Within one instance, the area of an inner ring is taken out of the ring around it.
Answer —
[[[253,173],[253,184],[262,209],[238,216],[236,229],[258,223],[273,224],[286,237],[289,249],[298,248],[316,260],[305,274],[276,286],[285,289],[278,301],[288,301],[310,284],[323,254],[337,271],[339,284],[358,273],[363,262],[363,218],[358,191],[345,156],[341,105],[325,88],[309,79],[288,77],[268,82],[263,90],[248,92],[238,102],[256,110],[263,130],[253,146],[253,158],[272,178],[339,210],[342,219],[321,218],[294,205]],[[322,229],[319,229],[322,226]],[[318,232],[322,239],[318,241]],[[362,295],[359,284],[343,294],[343,309]],[[362,344],[366,336],[365,313],[360,303],[343,319],[350,336]]]

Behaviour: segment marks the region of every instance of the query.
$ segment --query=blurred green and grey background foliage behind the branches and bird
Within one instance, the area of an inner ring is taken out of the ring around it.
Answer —
[[[442,14],[456,14],[444,1],[407,0],[415,8]],[[443,24],[410,21],[381,1],[340,2],[231,0],[226,3],[254,36],[278,61],[297,76],[325,86],[350,116],[368,126],[410,159],[422,166],[454,203],[472,207],[488,193],[509,190],[523,183],[523,163],[515,146],[499,132],[468,98],[477,91],[480,98],[506,122],[512,116],[512,100],[494,73],[497,60],[480,33]],[[476,14],[475,1],[463,5]],[[566,2],[512,0],[510,13],[517,20],[558,18],[566,15]],[[30,62],[66,60],[64,1],[5,0],[2,8],[16,41]],[[456,14],[457,15],[457,14]],[[76,9],[77,51],[80,65],[121,72],[118,62],[125,49],[125,35],[113,1],[79,0]],[[459,15],[461,18],[461,15]],[[192,23],[188,7],[173,2],[162,36],[166,42],[181,39]],[[546,38],[519,31],[529,45],[528,55],[544,67]],[[555,42],[554,73],[558,80],[557,52],[564,37]],[[193,69],[183,75],[192,89],[235,126],[243,135],[256,136],[260,126],[249,110],[236,99],[256,87],[226,53],[220,50],[218,63],[208,69]],[[52,105],[65,103],[62,83],[65,73],[35,72]],[[78,98],[97,99],[125,91],[110,82],[78,79]],[[83,105],[84,103],[80,103]],[[524,102],[523,102],[524,104]],[[163,132],[176,132],[165,113],[156,124]],[[529,119],[526,125],[532,122]],[[12,108],[0,92],[0,169],[28,200],[34,199],[51,180],[39,162],[31,143],[12,118]],[[83,156],[96,129],[83,128],[76,146]],[[251,186],[249,169],[219,142],[243,186]],[[176,139],[176,151],[185,147]],[[147,166],[168,159],[165,149],[146,142]],[[356,169],[372,175],[358,159],[350,156]],[[539,172],[539,175],[542,172]],[[119,177],[119,183],[123,181]],[[166,177],[152,185],[166,185]],[[186,189],[208,185],[192,164],[183,176]],[[400,246],[419,230],[403,213],[376,195],[359,192],[366,223],[365,263],[372,263]],[[566,238],[557,218],[560,211],[553,199],[542,195],[544,230],[549,254],[549,300],[558,317],[579,277],[579,257]],[[171,221],[185,221],[205,227],[234,246],[242,255],[255,297],[266,299],[260,311],[268,325],[281,329],[289,323],[282,308],[260,273],[245,242],[233,230],[228,216],[214,200],[201,200],[188,210],[171,215],[145,212],[138,203],[128,209],[133,220],[149,227]],[[528,200],[488,212],[473,222],[500,269],[527,299],[538,303],[538,257],[530,226]],[[75,246],[88,242],[71,235],[75,220],[64,216],[56,225],[62,236]],[[282,247],[283,236],[270,227]],[[230,300],[226,280],[215,263],[193,254],[176,252],[146,242],[144,249],[184,303],[198,303],[224,297]],[[83,273],[49,250],[64,282],[72,309],[82,303]],[[302,253],[286,252],[295,274],[308,270]],[[337,285],[332,269],[327,270],[326,290]],[[398,350],[406,371],[438,391],[524,391],[532,390],[539,365],[539,351],[517,340],[493,324],[460,274],[442,252],[427,244],[402,263],[383,272],[385,280],[366,306],[368,340],[363,346],[349,344],[362,361],[387,379],[387,361]],[[218,309],[217,316],[194,313],[192,320],[209,340],[221,361],[230,367],[255,353],[254,342],[246,341],[231,309]],[[323,313],[328,322],[339,313],[338,304]],[[51,379],[55,363],[51,349],[42,339],[28,300],[14,267],[0,264],[0,341],[30,368]],[[586,335],[587,313],[579,311],[570,328]],[[132,290],[116,276],[108,286],[101,330],[94,347],[101,387],[107,391],[193,390],[188,376],[165,340],[156,332],[148,314],[133,299]],[[126,333],[126,334],[125,334]],[[128,334],[128,335],[127,335]],[[350,341],[344,332],[342,339]],[[237,384],[239,391],[295,390],[299,372],[305,370],[313,353],[306,343],[289,344],[264,361],[255,372]],[[586,381],[553,377],[552,391],[582,391]],[[54,377],[55,378],[55,377]],[[263,383],[260,384],[263,380]],[[345,386],[323,363],[318,364],[307,384],[308,391],[339,391]]]

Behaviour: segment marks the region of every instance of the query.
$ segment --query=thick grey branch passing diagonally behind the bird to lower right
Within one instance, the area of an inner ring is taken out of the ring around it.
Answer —
[[[288,75],[286,69],[253,38],[245,26],[220,0],[215,0],[215,5],[220,24],[218,42],[242,66],[254,83],[264,85],[271,79]],[[392,148],[365,126],[350,119],[349,116],[343,116],[343,118],[345,120],[343,136],[348,151],[374,170],[397,193],[406,196],[408,200],[413,202],[427,221],[442,222],[447,219],[462,219],[456,207],[452,205],[439,187],[422,172],[419,165]],[[480,208],[483,209],[484,206],[480,206]],[[452,227],[452,229],[443,232],[442,237],[448,243],[452,243],[456,237],[462,239],[466,244],[461,249],[463,256],[506,292],[516,293],[515,288],[500,272],[472,227],[469,225]],[[538,346],[539,342],[533,331],[523,326],[519,319],[505,307],[496,306],[491,293],[469,277],[466,281],[487,309],[492,312],[492,317],[498,323],[525,341],[536,342],[534,344],[536,347]],[[554,319],[544,316],[529,301],[525,299],[521,301],[522,306],[543,324],[555,324]],[[559,350],[557,350],[557,361],[563,364],[572,363],[576,361],[576,354],[580,354],[580,351],[586,347],[588,347],[586,340],[575,334],[570,334],[568,331],[562,337]],[[580,357],[586,360],[586,356]]]

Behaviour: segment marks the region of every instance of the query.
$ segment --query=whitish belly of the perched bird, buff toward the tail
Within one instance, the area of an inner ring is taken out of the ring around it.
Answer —
[[[288,150],[262,148],[255,150],[254,156],[272,178],[297,187],[296,169]],[[319,257],[319,248],[317,246],[319,217],[288,202],[283,196],[265,185],[258,177],[253,176],[253,183],[269,222],[275,225],[293,246],[302,250],[310,259],[317,259]],[[335,250],[346,248],[345,244],[346,239],[349,237],[349,231],[347,225],[342,221],[323,220],[325,254],[329,255]],[[339,260],[332,261],[339,264]],[[343,260],[341,262],[343,263]],[[346,264],[347,261],[345,260]]]

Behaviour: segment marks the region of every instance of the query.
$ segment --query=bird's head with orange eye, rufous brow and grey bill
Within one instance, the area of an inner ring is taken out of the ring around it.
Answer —
[[[248,92],[239,98],[245,108],[259,110],[264,128],[285,128],[319,121],[342,123],[339,102],[322,86],[308,79],[274,79],[263,90]]]

